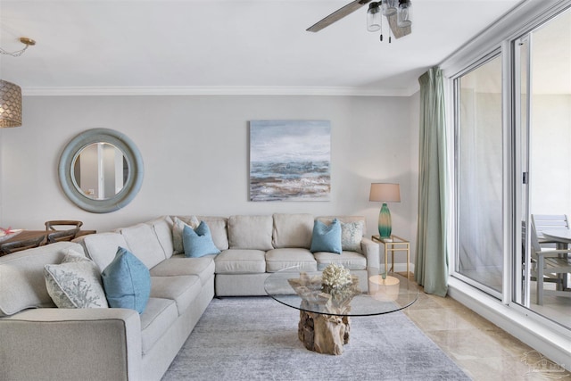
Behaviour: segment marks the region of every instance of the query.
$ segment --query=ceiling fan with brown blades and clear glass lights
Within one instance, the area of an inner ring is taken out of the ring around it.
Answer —
[[[354,0],[329,14],[325,19],[316,22],[306,30],[309,32],[319,32],[319,30],[327,28],[335,21],[343,19],[343,17],[357,11],[360,7],[366,4],[368,4],[367,29],[369,31],[374,32],[382,29],[381,14],[388,20],[389,27],[395,38],[401,38],[409,35],[412,31],[410,28],[412,24],[412,20],[410,18],[410,0],[382,0],[377,2],[371,2],[371,0]],[[383,41],[382,30],[381,41]],[[389,36],[389,42],[390,41],[391,39]]]

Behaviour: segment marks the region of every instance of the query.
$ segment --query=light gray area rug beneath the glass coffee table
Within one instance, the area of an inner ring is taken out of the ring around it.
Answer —
[[[340,356],[305,349],[298,321],[269,297],[214,299],[163,381],[470,379],[401,312],[352,318]]]

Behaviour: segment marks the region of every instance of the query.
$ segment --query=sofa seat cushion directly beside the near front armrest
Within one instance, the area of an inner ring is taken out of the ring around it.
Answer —
[[[178,318],[177,303],[172,299],[151,298],[141,314],[141,350],[143,355],[172,327]]]

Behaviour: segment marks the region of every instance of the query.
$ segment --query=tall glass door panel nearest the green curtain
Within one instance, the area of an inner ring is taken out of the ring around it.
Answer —
[[[504,262],[501,79],[497,52],[454,80],[455,276],[498,297]]]

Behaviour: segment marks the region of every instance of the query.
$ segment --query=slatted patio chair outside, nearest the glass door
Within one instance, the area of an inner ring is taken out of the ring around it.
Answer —
[[[531,257],[534,261],[531,275],[537,284],[537,304],[543,304],[544,294],[571,297],[571,288],[567,288],[567,274],[571,274],[571,250],[553,250],[542,248],[534,223],[531,225]],[[555,283],[555,290],[543,289],[543,283]]]

